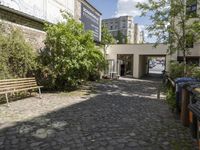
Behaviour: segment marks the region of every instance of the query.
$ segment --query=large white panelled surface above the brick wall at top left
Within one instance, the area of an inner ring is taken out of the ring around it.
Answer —
[[[74,0],[0,0],[0,5],[51,23],[62,21],[60,10],[74,15]]]

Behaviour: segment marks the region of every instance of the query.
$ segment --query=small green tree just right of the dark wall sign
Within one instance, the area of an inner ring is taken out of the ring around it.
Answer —
[[[101,44],[104,46],[104,54],[106,54],[106,49],[110,44],[115,43],[115,39],[112,34],[108,31],[105,25],[101,27]]]

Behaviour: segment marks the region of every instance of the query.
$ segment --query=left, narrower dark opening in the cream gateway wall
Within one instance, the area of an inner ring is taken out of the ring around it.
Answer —
[[[133,76],[133,55],[118,54],[117,55],[117,72],[120,76]]]

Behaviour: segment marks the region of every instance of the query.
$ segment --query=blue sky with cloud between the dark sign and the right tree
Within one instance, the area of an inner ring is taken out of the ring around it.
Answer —
[[[140,10],[136,8],[138,2],[147,2],[147,0],[88,0],[94,7],[102,13],[102,19],[130,15],[134,17],[134,23],[138,23],[141,29],[151,24],[147,17],[141,18]],[[154,42],[153,39],[147,38],[145,31],[145,41]]]

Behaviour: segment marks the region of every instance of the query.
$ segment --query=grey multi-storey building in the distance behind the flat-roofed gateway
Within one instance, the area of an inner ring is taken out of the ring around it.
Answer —
[[[118,43],[140,43],[138,24],[133,23],[132,16],[104,19],[105,25]]]

